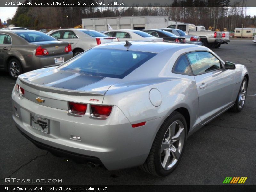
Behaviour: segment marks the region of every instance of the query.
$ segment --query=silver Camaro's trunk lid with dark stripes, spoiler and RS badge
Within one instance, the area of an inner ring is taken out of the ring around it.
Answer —
[[[53,68],[22,74],[17,84],[25,90],[25,98],[40,105],[67,110],[68,101],[102,104],[107,90],[120,79],[89,76]]]

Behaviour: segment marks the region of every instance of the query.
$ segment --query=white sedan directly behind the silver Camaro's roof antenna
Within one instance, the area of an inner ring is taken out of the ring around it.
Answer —
[[[154,37],[144,31],[133,29],[117,29],[104,32],[105,35],[116,37],[119,41],[163,41],[162,38]]]

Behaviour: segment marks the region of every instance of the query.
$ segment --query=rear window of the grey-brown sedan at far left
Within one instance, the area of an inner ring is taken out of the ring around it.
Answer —
[[[45,34],[45,33],[41,33],[41,32],[37,32],[37,31],[31,31],[31,32],[26,32],[26,30],[22,30],[20,32],[14,32],[16,33],[18,36],[22,37],[23,39],[25,39],[28,42],[38,42],[38,41],[55,41],[56,39]]]

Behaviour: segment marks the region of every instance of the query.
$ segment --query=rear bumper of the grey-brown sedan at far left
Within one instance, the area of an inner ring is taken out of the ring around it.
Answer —
[[[54,56],[24,56],[25,63],[23,63],[24,72],[44,68],[47,66],[55,65],[54,58],[63,57],[64,62],[73,57],[73,52],[64,53],[62,55]]]

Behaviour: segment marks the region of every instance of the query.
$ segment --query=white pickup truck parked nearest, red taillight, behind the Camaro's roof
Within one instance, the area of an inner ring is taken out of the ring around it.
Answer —
[[[196,26],[193,24],[174,24],[169,25],[167,28],[180,29],[192,36],[199,36],[202,44],[209,48],[215,48],[218,43],[222,43],[222,32],[220,31],[196,31]]]

